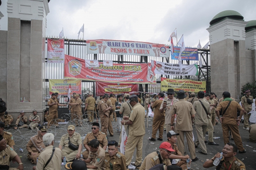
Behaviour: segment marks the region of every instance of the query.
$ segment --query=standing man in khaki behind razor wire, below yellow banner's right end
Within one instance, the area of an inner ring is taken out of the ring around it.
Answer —
[[[69,104],[73,105],[74,107],[73,119],[75,119],[75,125],[82,127],[82,106],[81,106],[82,100],[79,97],[79,94],[75,94],[75,103],[69,103]]]

